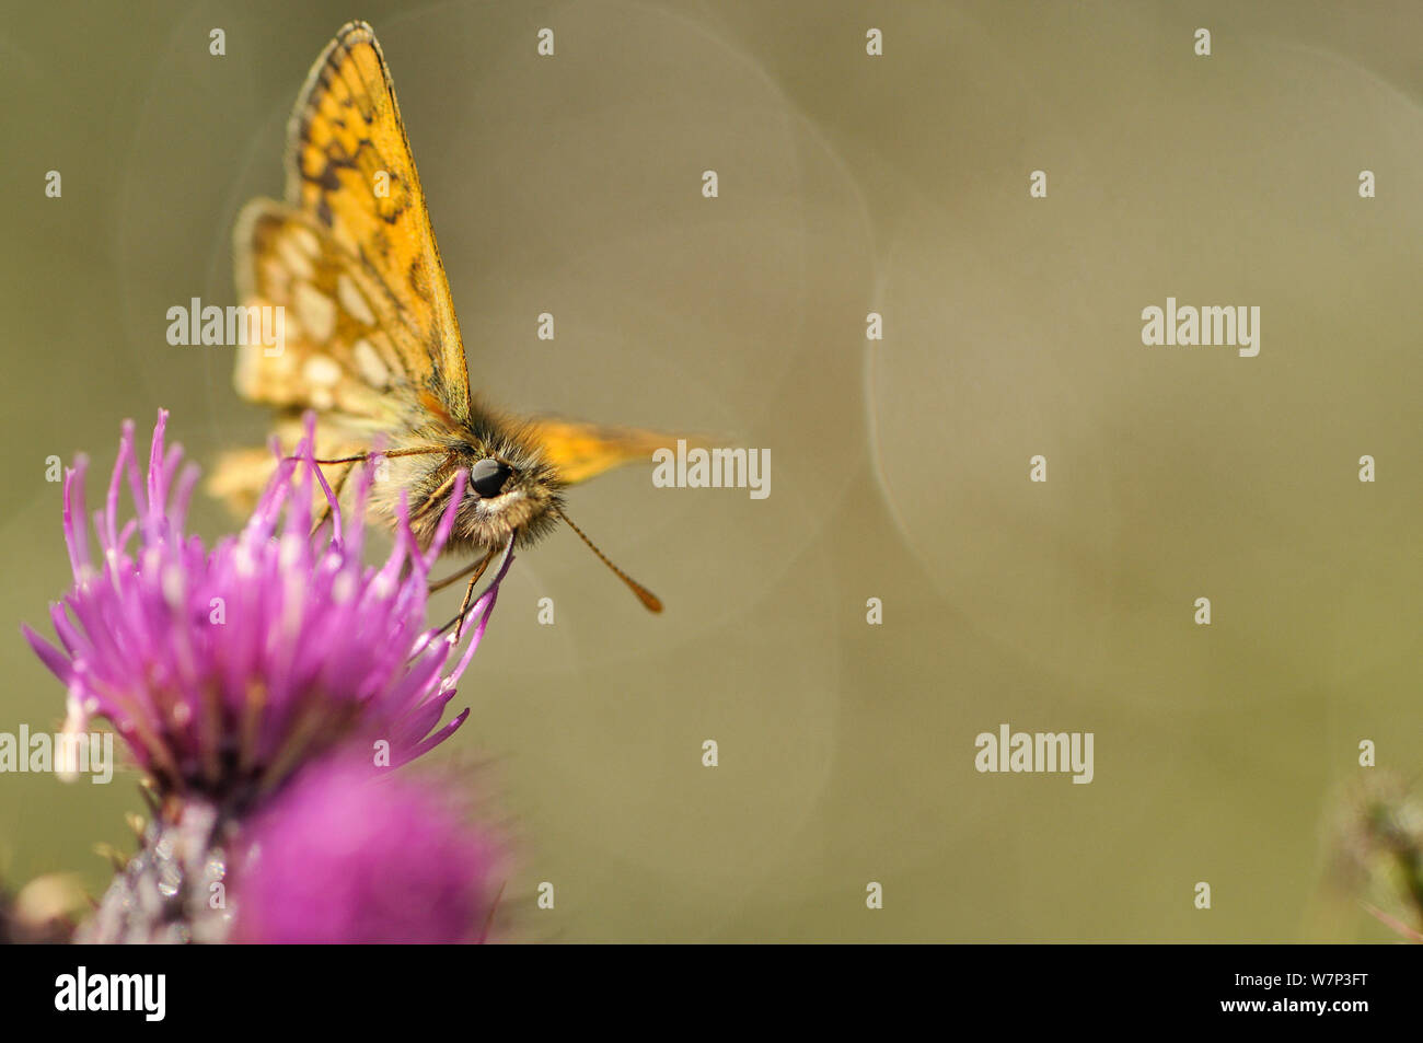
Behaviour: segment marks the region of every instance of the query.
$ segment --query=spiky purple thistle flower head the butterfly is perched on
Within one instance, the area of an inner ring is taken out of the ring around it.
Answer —
[[[134,425],[124,425],[105,509],[94,517],[97,561],[84,524],[85,460],[65,472],[74,586],[50,612],[63,652],[23,628],[68,689],[65,730],[105,717],[161,794],[195,791],[236,805],[353,736],[386,740],[391,766],[448,738],[468,710],[437,724],[512,558],[475,603],[468,647],[447,670],[454,640],[425,629],[427,576],[454,524],[464,472],[427,549],[401,502],[388,559],[364,566],[374,467],[353,475],[356,509],[343,525],[312,455],[309,417],[296,457],[280,461],[242,532],[206,551],[184,534],[196,468],[178,474],[182,450],[165,450],[166,418],[159,411],[147,475],[134,458]],[[137,515],[121,525],[125,481]],[[313,481],[333,507],[317,538],[309,535]]]

